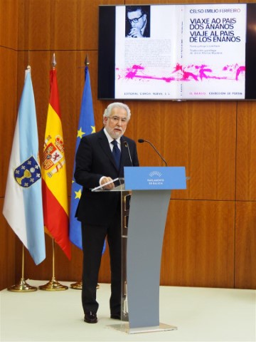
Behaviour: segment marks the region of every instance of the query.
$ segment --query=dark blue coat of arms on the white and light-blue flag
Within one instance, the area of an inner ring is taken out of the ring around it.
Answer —
[[[14,178],[21,187],[31,187],[41,178],[41,170],[33,155],[14,170]]]

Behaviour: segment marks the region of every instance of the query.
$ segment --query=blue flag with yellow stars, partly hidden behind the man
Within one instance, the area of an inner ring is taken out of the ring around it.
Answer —
[[[95,133],[95,120],[92,107],[92,90],[90,86],[89,69],[85,67],[85,87],[82,93],[82,104],[80,109],[80,119],[78,123],[78,135],[75,145],[75,153],[78,150],[80,140],[84,135]],[[75,172],[75,162],[73,168],[73,175]],[[78,202],[82,195],[82,186],[72,180],[71,188],[71,203],[70,203],[70,241],[75,246],[82,249],[82,233],[81,222],[75,217],[75,212],[78,207]]]

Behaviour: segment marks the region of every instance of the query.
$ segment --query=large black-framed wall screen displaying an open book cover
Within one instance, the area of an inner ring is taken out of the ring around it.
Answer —
[[[98,97],[247,99],[255,76],[255,9],[256,4],[100,6]],[[105,11],[112,21],[107,31]]]

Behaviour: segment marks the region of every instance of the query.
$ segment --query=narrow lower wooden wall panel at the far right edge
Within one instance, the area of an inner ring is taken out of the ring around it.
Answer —
[[[256,289],[256,202],[236,203],[235,288]]]

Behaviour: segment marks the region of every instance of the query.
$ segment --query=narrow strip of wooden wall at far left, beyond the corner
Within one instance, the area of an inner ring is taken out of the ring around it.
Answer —
[[[17,115],[18,1],[0,1],[0,15],[0,289],[4,289],[15,281],[16,238],[2,210]]]

